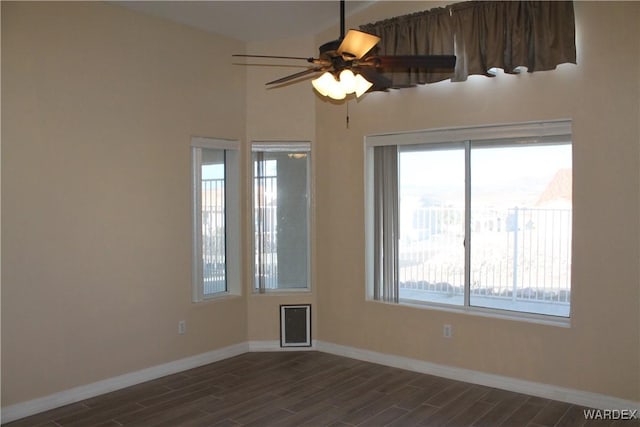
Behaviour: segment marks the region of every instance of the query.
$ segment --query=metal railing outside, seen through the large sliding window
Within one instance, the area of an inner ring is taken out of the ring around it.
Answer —
[[[464,245],[462,208],[416,209],[400,239],[399,287],[427,294],[464,294],[464,263],[449,254]],[[472,296],[498,301],[569,304],[571,209],[475,210]],[[419,298],[413,293],[413,298]]]

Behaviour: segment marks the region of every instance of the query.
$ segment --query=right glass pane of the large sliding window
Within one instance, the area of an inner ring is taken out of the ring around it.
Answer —
[[[470,304],[569,316],[571,145],[471,150]]]

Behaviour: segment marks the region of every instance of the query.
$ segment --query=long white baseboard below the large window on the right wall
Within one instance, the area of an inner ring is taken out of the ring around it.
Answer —
[[[589,408],[640,410],[640,402],[619,399],[617,397],[607,396],[604,394],[536,383],[501,375],[487,374],[485,372],[455,368],[452,366],[439,365],[425,362],[423,360],[378,353],[375,351],[363,350],[324,341],[318,341],[316,343],[316,348],[318,351],[338,356],[378,363],[380,365],[406,369],[438,377],[450,378],[472,384],[495,387],[502,390],[543,397],[546,399],[559,400],[561,402],[582,405]]]

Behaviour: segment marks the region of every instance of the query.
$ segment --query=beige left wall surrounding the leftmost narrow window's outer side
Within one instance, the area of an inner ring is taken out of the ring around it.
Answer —
[[[192,135],[244,138],[243,48],[2,2],[2,406],[246,341],[244,298],[191,303],[189,192]]]

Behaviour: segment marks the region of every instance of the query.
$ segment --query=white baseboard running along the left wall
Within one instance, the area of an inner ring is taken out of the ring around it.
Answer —
[[[197,368],[198,366],[217,362],[230,357],[238,356],[249,351],[248,343],[240,343],[224,347],[196,356],[186,357],[162,365],[152,366],[95,383],[74,387],[50,394],[38,399],[17,403],[15,405],[2,408],[2,423],[8,423],[20,418],[28,417],[39,412],[55,409],[60,406],[69,405],[81,400],[89,399],[111,391],[119,390],[145,381],[154,380],[166,375]]]

